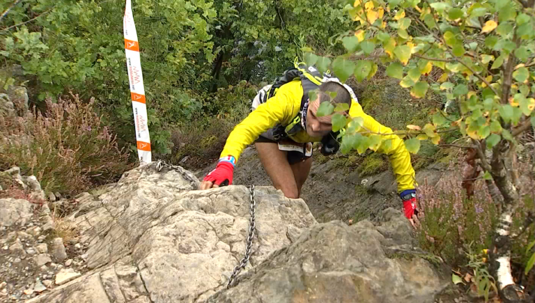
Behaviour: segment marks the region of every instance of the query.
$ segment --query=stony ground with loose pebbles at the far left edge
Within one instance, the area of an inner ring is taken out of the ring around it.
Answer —
[[[0,171],[0,183],[5,185],[5,190],[0,193],[3,196],[15,194],[23,197],[1,199],[0,303],[24,302],[54,288],[52,280],[63,265],[52,263],[53,259],[47,254],[48,247],[51,252],[58,247],[53,244],[54,235],[73,236],[75,233],[71,232],[72,226],[62,223],[61,218],[50,212],[46,201],[40,199],[43,192],[36,178],[21,176],[20,169],[13,167]],[[51,216],[63,230],[54,231],[52,224],[51,228],[45,228],[44,224],[52,221]],[[74,245],[63,244],[63,253],[68,252],[73,258],[70,267],[79,274],[85,274],[88,270],[80,254],[84,254],[86,249],[74,250],[71,248]],[[54,258],[60,256],[61,248],[59,251],[59,254],[54,251]]]

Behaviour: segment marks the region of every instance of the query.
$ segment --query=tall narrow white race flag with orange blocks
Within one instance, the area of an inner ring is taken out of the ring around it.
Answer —
[[[136,127],[137,155],[139,162],[150,163],[152,155],[150,153],[150,137],[148,135],[145,88],[143,86],[143,75],[141,74],[139,43],[137,41],[136,25],[132,17],[131,0],[126,0],[123,31],[125,34],[128,81],[130,82],[130,95],[132,97],[132,110],[134,111],[134,125]]]

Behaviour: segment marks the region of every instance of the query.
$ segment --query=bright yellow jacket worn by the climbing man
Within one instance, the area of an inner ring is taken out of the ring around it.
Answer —
[[[274,127],[277,123],[281,123],[281,125],[290,124],[290,121],[300,111],[302,95],[303,88],[300,80],[294,80],[281,86],[276,95],[268,99],[267,102],[260,104],[247,118],[234,127],[226,139],[221,157],[231,155],[238,161],[242,151],[253,143],[260,134]],[[349,115],[352,118],[362,117],[364,119],[364,125],[359,132],[363,132],[362,134],[365,136],[369,135],[365,133],[366,130],[382,134],[392,133],[389,127],[381,125],[374,118],[365,114],[357,102],[352,102]],[[321,140],[320,137],[310,137],[304,130],[290,138],[300,143]],[[389,156],[392,170],[398,182],[398,192],[403,192],[405,189],[414,189],[414,169],[410,162],[410,154],[405,148],[403,140],[394,134],[383,138],[391,139],[391,146],[388,146],[388,150],[386,150],[385,144],[383,144],[376,151]]]

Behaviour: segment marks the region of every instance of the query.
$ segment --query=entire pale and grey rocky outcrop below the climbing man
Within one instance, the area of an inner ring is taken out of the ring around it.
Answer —
[[[394,258],[414,252],[401,212],[385,210],[378,226],[317,224],[302,199],[257,187],[251,259],[227,290],[245,253],[249,189],[194,190],[191,173],[155,167],[125,173],[98,197],[76,198],[65,220],[77,226],[89,271],[67,261],[52,281],[28,290],[40,295],[27,302],[433,302],[442,289],[418,252]]]

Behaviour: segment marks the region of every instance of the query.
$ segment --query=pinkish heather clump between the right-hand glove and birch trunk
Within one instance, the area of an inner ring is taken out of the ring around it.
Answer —
[[[440,255],[451,264],[463,262],[464,244],[474,242],[476,249],[490,246],[497,207],[484,180],[474,182],[474,196],[467,198],[463,176],[451,173],[435,187],[419,187],[419,235],[424,249]]]

